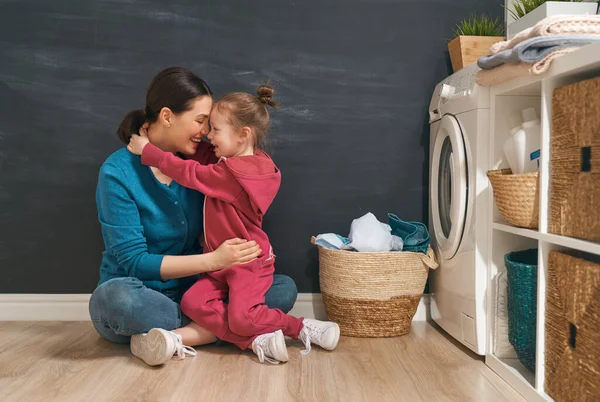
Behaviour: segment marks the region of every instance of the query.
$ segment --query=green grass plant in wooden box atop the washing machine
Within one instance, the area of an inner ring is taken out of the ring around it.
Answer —
[[[490,46],[504,40],[500,19],[471,14],[453,29],[455,38],[448,42],[452,69],[456,72],[489,54]]]

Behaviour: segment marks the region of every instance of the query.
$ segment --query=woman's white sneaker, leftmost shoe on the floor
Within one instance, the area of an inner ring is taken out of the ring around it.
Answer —
[[[196,356],[196,351],[181,342],[181,335],[161,328],[152,328],[147,334],[131,337],[131,353],[149,366],[165,364],[174,355],[184,359],[186,355]]]

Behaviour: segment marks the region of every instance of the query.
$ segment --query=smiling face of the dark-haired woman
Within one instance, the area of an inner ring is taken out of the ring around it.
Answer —
[[[190,110],[171,114],[164,132],[164,150],[194,155],[202,137],[210,131],[209,116],[212,109],[212,98],[201,96],[196,98]]]

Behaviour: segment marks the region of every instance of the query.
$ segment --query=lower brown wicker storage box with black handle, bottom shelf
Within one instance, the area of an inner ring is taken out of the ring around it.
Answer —
[[[551,251],[545,389],[556,401],[600,401],[600,264]]]

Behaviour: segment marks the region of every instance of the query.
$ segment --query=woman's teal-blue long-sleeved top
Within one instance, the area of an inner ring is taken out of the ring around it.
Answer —
[[[99,285],[134,277],[158,291],[175,292],[196,276],[162,281],[164,255],[201,254],[204,196],[176,182],[158,181],[140,157],[122,148],[110,155],[98,176],[96,204],[106,250]]]

